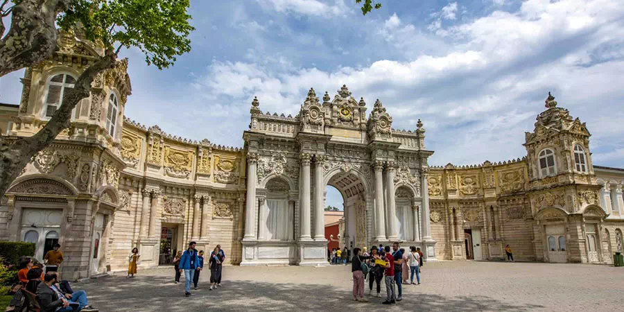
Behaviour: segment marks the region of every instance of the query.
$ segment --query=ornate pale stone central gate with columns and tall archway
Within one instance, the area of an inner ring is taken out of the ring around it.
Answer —
[[[241,265],[327,264],[324,189],[345,198],[345,243],[363,247],[404,241],[435,258],[428,212],[424,128],[392,129],[377,100],[345,85],[322,101],[310,89],[297,116],[263,114],[252,101],[245,131],[247,195]],[[397,199],[397,196],[399,198]],[[398,206],[397,206],[398,204]]]

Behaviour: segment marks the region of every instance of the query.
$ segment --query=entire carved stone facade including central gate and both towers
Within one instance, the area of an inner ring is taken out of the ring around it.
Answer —
[[[51,60],[26,70],[10,135],[33,135],[46,123],[51,78],[79,75],[103,53],[81,34],[63,33],[59,44]],[[404,241],[432,261],[502,258],[509,244],[517,259],[598,263],[621,248],[624,170],[593,166],[586,125],[553,96],[526,134],[526,157],[431,167],[421,121],[416,130],[392,129],[381,101],[367,115],[345,85],[333,98],[310,89],[294,117],[262,113],[254,98],[244,148],[168,135],[121,118],[127,66],[122,60],[96,78],[71,127],[1,201],[0,239],[38,231],[42,257],[46,234],[57,231],[71,263],[61,267],[67,279],[126,270],[133,247],[141,268],[169,263],[191,240],[204,250],[220,244],[242,265],[327,264],[327,185],[345,198],[340,239],[349,247]],[[112,94],[120,100],[113,133],[103,114]],[[552,168],[540,165],[546,149]],[[466,250],[465,239],[476,249]]]

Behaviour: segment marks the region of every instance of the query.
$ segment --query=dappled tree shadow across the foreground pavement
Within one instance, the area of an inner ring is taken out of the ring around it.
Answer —
[[[227,281],[209,291],[200,281],[198,291],[184,297],[184,277],[173,284],[171,277],[104,277],[77,283],[89,302],[100,311],[370,311],[383,309],[383,297],[367,297],[370,302],[352,301],[351,285],[338,288],[319,284],[271,284],[255,281]],[[441,296],[417,293],[404,288],[404,300],[387,311],[527,311],[543,309],[537,304],[510,304],[487,296]]]

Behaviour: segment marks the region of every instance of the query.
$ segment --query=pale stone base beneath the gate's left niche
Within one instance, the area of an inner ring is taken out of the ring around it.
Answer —
[[[295,241],[242,241],[241,266],[288,266],[296,263]]]

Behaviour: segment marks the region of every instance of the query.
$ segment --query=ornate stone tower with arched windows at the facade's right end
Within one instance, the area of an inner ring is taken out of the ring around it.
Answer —
[[[605,210],[593,173],[589,131],[548,93],[535,130],[526,133],[528,177],[537,259],[600,262]]]

